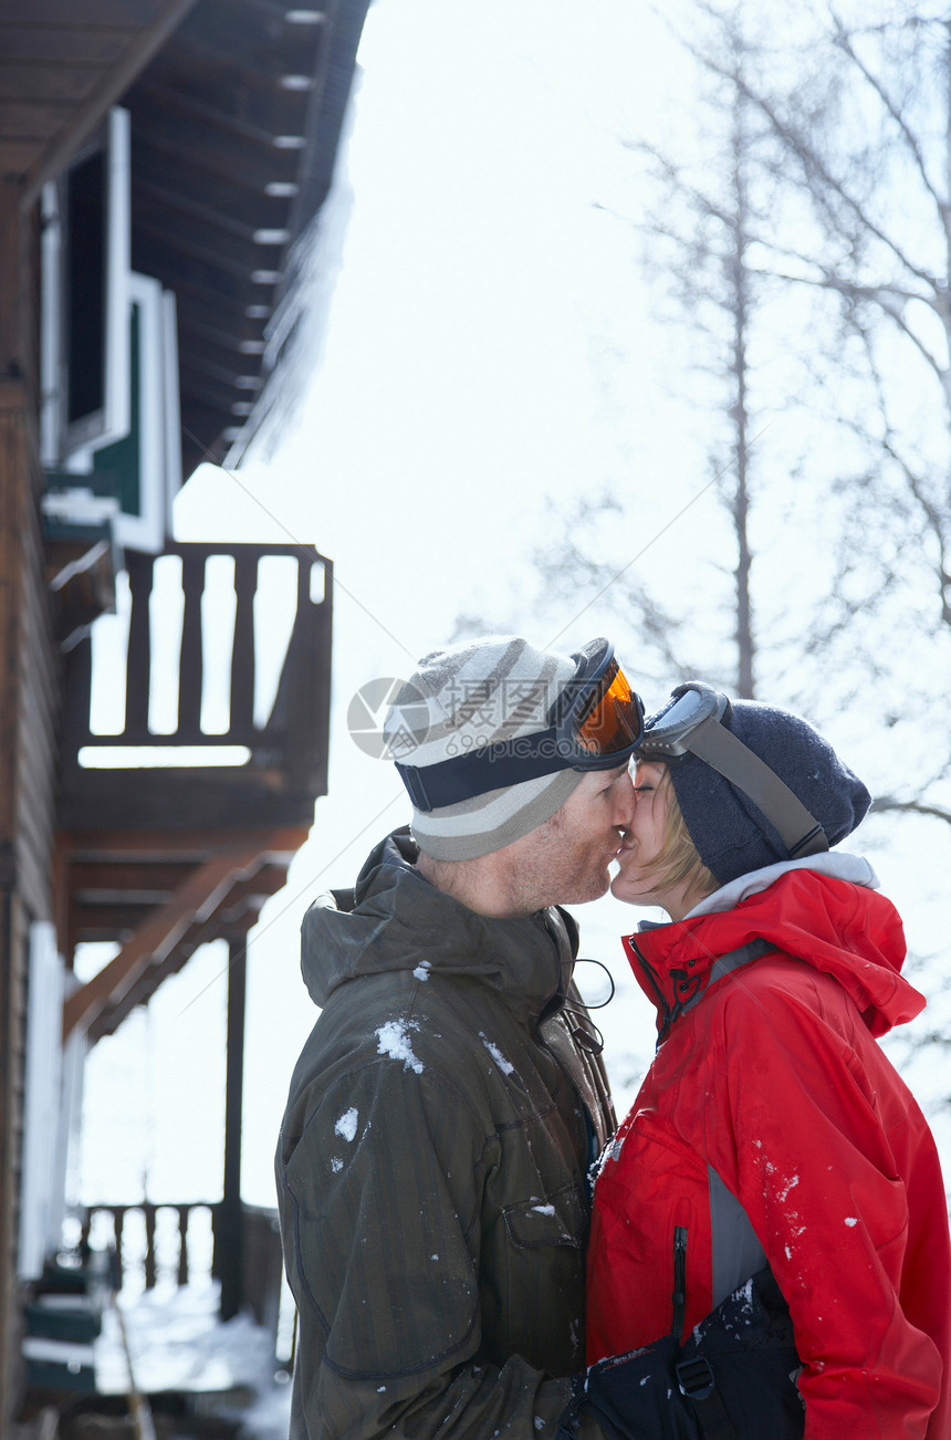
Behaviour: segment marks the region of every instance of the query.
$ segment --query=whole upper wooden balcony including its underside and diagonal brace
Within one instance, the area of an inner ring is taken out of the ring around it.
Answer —
[[[158,567],[170,559],[180,573],[171,665],[167,634],[158,644],[168,586],[157,585]],[[292,622],[279,634],[268,613],[256,613],[262,567],[275,560],[295,577]],[[222,564],[233,576],[224,598]],[[129,554],[128,638],[109,657],[105,687],[106,696],[125,698],[111,733],[94,726],[91,641],[65,657],[60,948],[69,956],[83,940],[121,946],[70,996],[66,1032],[81,1025],[96,1040],[115,1030],[206,940],[223,936],[240,950],[265,900],[283,884],[315,799],[327,792],[329,576],[329,562],[295,546],[173,544],[164,556]],[[273,649],[288,634],[273,703],[259,714],[256,674],[265,661],[275,671]],[[227,690],[217,697],[213,724],[206,714],[210,668],[226,677]],[[95,678],[102,693],[102,677]],[[164,704],[161,732],[158,691],[173,701]],[[106,768],[99,768],[102,759]]]

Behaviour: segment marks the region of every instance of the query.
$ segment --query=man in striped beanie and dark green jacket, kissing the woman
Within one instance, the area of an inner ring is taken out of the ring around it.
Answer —
[[[322,1011],[276,1162],[295,1440],[555,1434],[614,1128],[558,906],[607,890],[640,730],[606,641],[437,651],[397,696],[411,834],[304,923]]]

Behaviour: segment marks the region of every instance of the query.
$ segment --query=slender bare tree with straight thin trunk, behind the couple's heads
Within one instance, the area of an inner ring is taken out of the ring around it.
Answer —
[[[781,648],[768,618],[758,622],[754,543],[757,495],[768,487],[770,467],[775,467],[765,436],[775,402],[754,361],[757,351],[768,348],[777,294],[775,281],[758,259],[775,190],[770,164],[775,143],[737,82],[747,63],[741,27],[722,27],[716,40],[722,53],[718,66],[706,72],[711,84],[696,127],[696,148],[678,156],[640,138],[626,140],[624,145],[642,164],[655,194],[649,215],[636,228],[645,265],[662,284],[659,321],[691,336],[691,396],[683,399],[695,416],[702,415],[708,452],[704,488],[716,491],[732,553],[719,562],[711,546],[714,553],[705,557],[699,583],[673,583],[663,599],[640,579],[636,566],[613,570],[594,536],[606,518],[609,524],[622,523],[637,505],[632,487],[626,494],[609,490],[600,501],[586,501],[561,516],[563,539],[557,549],[540,550],[537,564],[547,598],[552,592],[581,592],[597,596],[601,606],[610,605],[632,631],[642,672],[647,655],[652,658],[650,678],[669,684],[702,674],[752,698],[764,654],[763,631],[767,649]],[[696,96],[693,105],[699,108]],[[675,387],[685,384],[683,374],[679,382],[668,379]],[[689,573],[693,577],[695,567]],[[715,625],[706,632],[698,626],[704,609],[715,612]],[[765,611],[768,615],[768,606]],[[810,625],[804,618],[803,626],[811,634]],[[794,670],[803,626],[787,645],[788,670]]]

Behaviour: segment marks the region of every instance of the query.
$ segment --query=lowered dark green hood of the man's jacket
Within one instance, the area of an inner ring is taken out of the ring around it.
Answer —
[[[325,1005],[347,981],[387,971],[468,975],[504,992],[524,1017],[568,986],[577,926],[550,909],[514,920],[476,914],[416,870],[409,827],[371,851],[352,890],[334,890],[304,916],[301,971]]]

